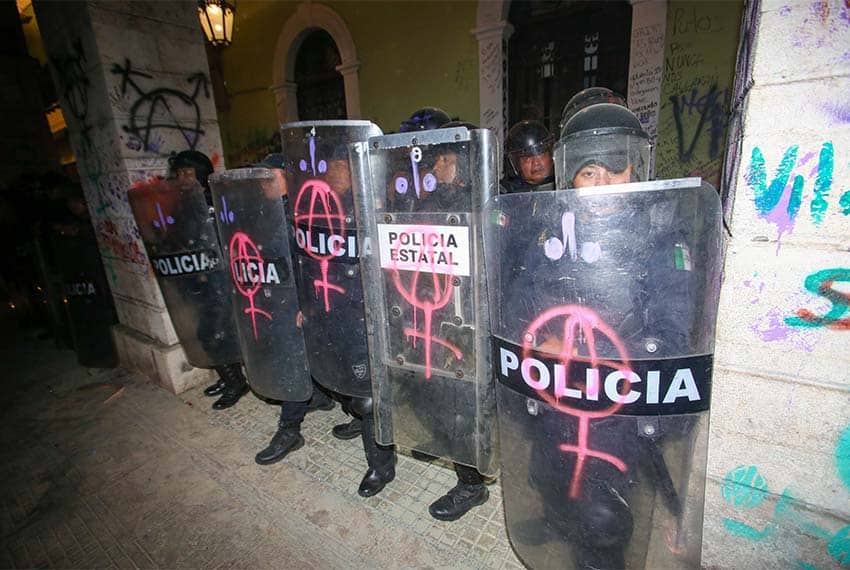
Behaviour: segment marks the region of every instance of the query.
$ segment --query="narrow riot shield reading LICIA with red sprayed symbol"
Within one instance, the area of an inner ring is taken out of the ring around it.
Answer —
[[[248,383],[274,400],[309,400],[313,383],[296,325],[283,173],[228,170],[211,176],[210,186]]]

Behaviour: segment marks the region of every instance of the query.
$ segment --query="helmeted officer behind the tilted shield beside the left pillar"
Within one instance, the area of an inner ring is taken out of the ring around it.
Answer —
[[[210,194],[209,176],[213,173],[212,161],[204,153],[197,150],[184,150],[168,159],[169,178],[185,181],[192,184],[197,181],[204,188],[204,197],[207,204],[212,207],[212,195]],[[220,339],[216,337],[216,331],[220,330],[220,323],[216,322],[222,315],[218,312],[204,311],[199,315],[198,339],[205,349]],[[234,362],[216,366],[215,371],[219,376],[218,382],[204,389],[206,396],[219,396],[213,402],[214,410],[224,410],[236,404],[239,399],[248,392],[248,383],[242,374],[242,363]]]

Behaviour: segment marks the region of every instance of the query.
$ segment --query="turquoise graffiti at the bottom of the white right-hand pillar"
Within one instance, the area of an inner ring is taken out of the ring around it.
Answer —
[[[845,490],[850,490],[850,427],[844,429],[833,451],[833,466]],[[756,509],[770,495],[767,478],[754,465],[739,465],[730,470],[720,487],[720,493],[734,510]],[[837,531],[823,528],[806,514],[805,504],[785,488],[776,499],[770,519],[762,528],[750,526],[732,517],[723,517],[726,531],[753,543],[783,542],[785,532],[803,533],[818,541],[830,559],[850,566],[850,525]],[[806,560],[795,560],[798,568],[817,568]]]

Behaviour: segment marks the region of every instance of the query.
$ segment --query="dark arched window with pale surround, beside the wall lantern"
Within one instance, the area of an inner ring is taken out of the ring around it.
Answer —
[[[333,38],[325,30],[309,32],[295,56],[298,118],[302,121],[345,119],[345,81]]]

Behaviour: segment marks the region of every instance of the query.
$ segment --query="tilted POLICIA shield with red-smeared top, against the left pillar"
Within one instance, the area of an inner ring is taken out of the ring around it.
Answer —
[[[133,217],[189,364],[239,362],[230,275],[197,182],[157,180],[128,192]]]

